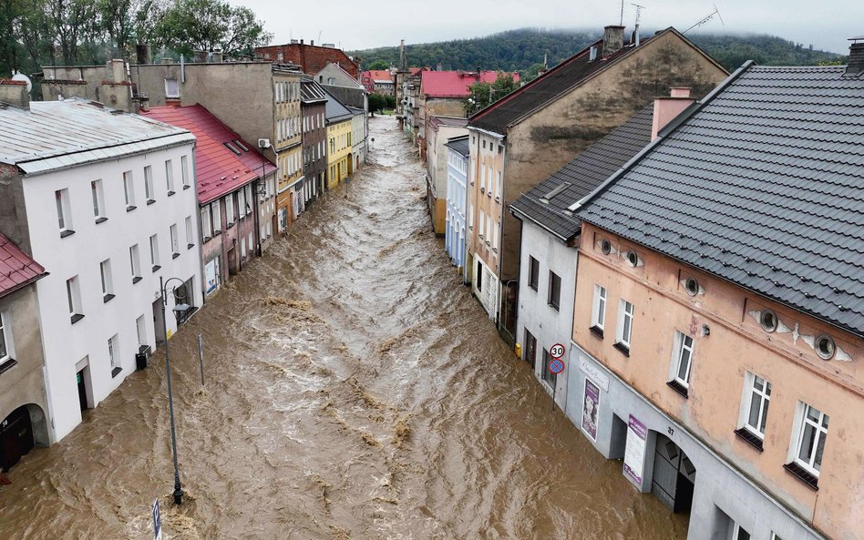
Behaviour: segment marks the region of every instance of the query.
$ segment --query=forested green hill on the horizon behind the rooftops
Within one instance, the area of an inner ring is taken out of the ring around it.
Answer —
[[[522,28],[472,39],[406,45],[406,56],[410,66],[434,68],[441,63],[445,69],[481,67],[530,73],[542,64],[544,54],[548,55],[549,66],[555,66],[600,37],[599,33],[587,30]],[[840,55],[777,36],[688,34],[687,37],[730,71],[746,60],[768,66],[807,66],[842,59]],[[399,60],[396,46],[348,54],[360,56],[367,69],[383,67],[382,62],[396,66]]]

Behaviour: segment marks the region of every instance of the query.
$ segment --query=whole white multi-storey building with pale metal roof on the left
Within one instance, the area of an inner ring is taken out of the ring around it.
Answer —
[[[26,209],[0,225],[48,272],[36,288],[54,440],[164,341],[160,278],[180,297],[165,306],[169,339],[175,304],[201,306],[195,138],[109,110],[67,100],[0,111],[21,133],[0,146],[0,162],[18,171],[4,188]]]

